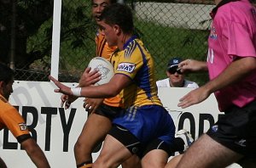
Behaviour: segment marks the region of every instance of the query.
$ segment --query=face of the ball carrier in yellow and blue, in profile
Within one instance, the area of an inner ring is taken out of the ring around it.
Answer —
[[[99,26],[102,30],[102,34],[105,35],[105,38],[108,42],[109,47],[117,46],[118,36],[117,36],[117,26],[108,25],[104,20],[99,21]]]

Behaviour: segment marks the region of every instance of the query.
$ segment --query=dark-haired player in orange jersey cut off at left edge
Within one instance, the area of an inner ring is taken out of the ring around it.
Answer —
[[[25,120],[17,109],[8,102],[9,95],[13,92],[13,83],[14,72],[6,65],[0,64],[0,130],[7,127],[21,147],[26,150],[26,154],[32,162],[39,168],[48,168],[49,163],[42,149],[32,139]],[[0,167],[7,167],[2,159],[0,159]]]

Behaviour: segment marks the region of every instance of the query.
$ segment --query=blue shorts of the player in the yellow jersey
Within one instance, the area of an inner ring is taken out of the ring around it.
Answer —
[[[113,124],[124,127],[137,137],[140,143],[160,139],[170,144],[174,139],[175,126],[172,117],[160,105],[132,106],[124,109],[113,119]]]

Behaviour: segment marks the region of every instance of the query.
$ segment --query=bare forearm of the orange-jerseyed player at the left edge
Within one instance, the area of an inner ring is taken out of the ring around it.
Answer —
[[[32,138],[28,138],[20,144],[21,147],[26,150],[26,154],[30,157],[32,162],[38,168],[50,167],[42,149],[38,146],[38,143],[36,143]]]

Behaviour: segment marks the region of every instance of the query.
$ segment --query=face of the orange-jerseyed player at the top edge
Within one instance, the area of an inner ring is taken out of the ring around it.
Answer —
[[[110,0],[93,0],[92,2],[92,15],[96,20],[96,23],[100,20],[99,17],[102,14],[104,8],[110,4]]]

